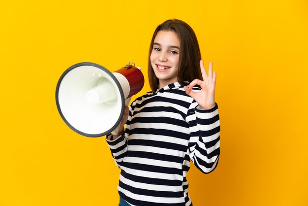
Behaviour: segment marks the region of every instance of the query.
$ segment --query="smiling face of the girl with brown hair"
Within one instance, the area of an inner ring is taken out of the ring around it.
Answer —
[[[159,89],[178,81],[180,39],[171,31],[159,31],[154,39],[150,61],[159,80]]]

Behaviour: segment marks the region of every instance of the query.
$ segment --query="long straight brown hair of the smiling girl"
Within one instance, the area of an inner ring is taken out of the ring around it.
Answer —
[[[201,52],[196,34],[184,21],[169,19],[158,25],[152,36],[148,59],[148,75],[151,89],[155,91],[159,84],[150,60],[154,39],[159,31],[172,31],[176,33],[180,39],[178,82],[181,86],[187,85],[187,82],[185,81],[191,82],[195,78],[202,80],[199,64],[201,60]]]

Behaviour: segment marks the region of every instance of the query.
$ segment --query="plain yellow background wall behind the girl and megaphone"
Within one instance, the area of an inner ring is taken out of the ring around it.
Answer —
[[[0,206],[118,204],[107,143],[65,125],[56,85],[79,62],[147,76],[170,18],[217,71],[221,156],[213,173],[188,172],[194,206],[308,205],[307,0],[1,0]]]

